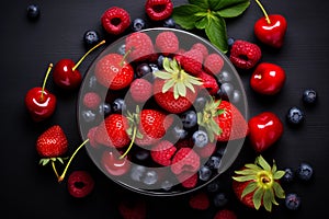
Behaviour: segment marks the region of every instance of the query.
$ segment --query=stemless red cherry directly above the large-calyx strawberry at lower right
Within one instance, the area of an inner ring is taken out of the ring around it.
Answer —
[[[248,122],[250,143],[257,152],[263,152],[275,143],[283,134],[283,124],[271,112],[260,113]]]

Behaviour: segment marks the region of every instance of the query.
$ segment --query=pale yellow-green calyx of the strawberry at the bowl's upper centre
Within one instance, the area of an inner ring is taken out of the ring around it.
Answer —
[[[164,71],[157,71],[154,74],[157,78],[166,80],[162,93],[173,89],[173,97],[175,100],[180,96],[186,96],[188,89],[195,93],[194,85],[203,84],[200,78],[186,73],[174,58],[170,60],[164,57],[163,69]]]

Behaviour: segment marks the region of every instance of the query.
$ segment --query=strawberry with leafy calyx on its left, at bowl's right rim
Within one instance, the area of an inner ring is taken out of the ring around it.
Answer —
[[[245,138],[248,124],[241,112],[225,100],[211,100],[203,112],[197,113],[197,124],[203,126],[209,141],[228,141]]]

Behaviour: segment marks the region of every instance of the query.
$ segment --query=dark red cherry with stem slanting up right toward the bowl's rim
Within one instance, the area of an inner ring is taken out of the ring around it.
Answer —
[[[91,49],[89,49],[77,64],[75,64],[75,61],[71,59],[59,60],[55,65],[53,72],[53,79],[55,84],[63,89],[78,88],[82,81],[81,73],[78,70],[79,65],[92,50],[94,50],[97,47],[101,46],[104,43],[105,41],[102,41],[95,46],[93,46]]]

